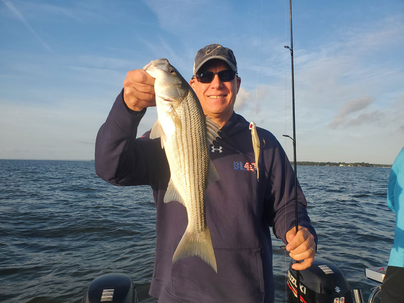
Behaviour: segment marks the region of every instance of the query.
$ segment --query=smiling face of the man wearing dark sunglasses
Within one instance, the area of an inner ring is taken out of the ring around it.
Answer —
[[[212,59],[204,64],[198,72],[214,72],[231,69],[229,65],[220,59]],[[238,89],[240,88],[241,78],[235,76],[229,82],[222,82],[219,76],[215,75],[211,83],[201,83],[192,78],[189,84],[195,91],[200,105],[205,115],[212,119],[219,119],[224,122],[230,119],[233,114],[234,102]],[[222,125],[221,125],[222,126]]]

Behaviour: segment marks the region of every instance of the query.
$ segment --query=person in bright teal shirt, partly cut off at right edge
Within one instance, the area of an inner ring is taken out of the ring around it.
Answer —
[[[404,303],[404,147],[391,167],[387,206],[395,213],[395,230],[382,284],[382,303]]]

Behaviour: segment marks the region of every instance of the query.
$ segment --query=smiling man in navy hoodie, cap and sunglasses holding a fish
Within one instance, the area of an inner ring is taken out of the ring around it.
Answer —
[[[308,268],[317,236],[298,186],[299,231],[294,232],[294,177],[285,153],[268,131],[259,128],[262,143],[257,169],[249,123],[233,111],[241,78],[231,49],[211,44],[195,57],[190,85],[204,113],[220,126],[221,138],[210,146],[220,180],[206,190],[206,218],[217,270],[198,257],[172,263],[187,226],[185,208],[164,204],[170,170],[160,140],[149,132],[136,137],[147,107],[155,106],[154,78],[130,71],[124,89],[100,128],[95,147],[98,176],[116,185],[148,184],[157,208],[156,257],[149,294],[159,302],[273,302],[272,244],[269,226],[287,243],[290,257]]]

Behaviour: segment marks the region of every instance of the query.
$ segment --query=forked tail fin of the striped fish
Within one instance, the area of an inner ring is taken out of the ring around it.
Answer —
[[[211,233],[207,227],[202,232],[185,230],[177,249],[174,252],[173,263],[186,257],[198,256],[208,263],[217,273],[215,252],[213,251]]]

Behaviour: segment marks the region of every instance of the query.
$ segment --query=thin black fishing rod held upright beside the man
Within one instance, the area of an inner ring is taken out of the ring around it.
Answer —
[[[289,0],[289,15],[290,15],[290,47],[285,45],[284,47],[290,51],[290,60],[292,67],[292,121],[293,121],[293,138],[288,135],[283,135],[292,139],[293,142],[293,169],[294,169],[294,220],[295,220],[295,232],[298,231],[298,214],[297,214],[297,171],[296,171],[296,126],[294,117],[294,76],[293,76],[293,34],[292,34],[292,0]],[[299,263],[299,261],[296,261]],[[300,274],[296,270],[296,291],[297,291],[297,303],[300,303]]]

